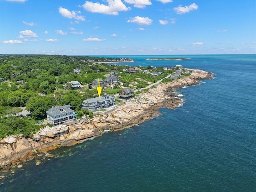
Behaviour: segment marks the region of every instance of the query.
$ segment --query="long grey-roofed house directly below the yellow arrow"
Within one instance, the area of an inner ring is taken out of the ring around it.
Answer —
[[[82,102],[82,106],[88,108],[89,111],[94,111],[101,108],[106,109],[114,106],[115,104],[115,98],[109,95],[86,99]]]

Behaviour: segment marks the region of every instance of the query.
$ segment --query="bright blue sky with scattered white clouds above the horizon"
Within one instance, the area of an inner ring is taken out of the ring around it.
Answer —
[[[0,0],[0,54],[256,54],[256,1]]]

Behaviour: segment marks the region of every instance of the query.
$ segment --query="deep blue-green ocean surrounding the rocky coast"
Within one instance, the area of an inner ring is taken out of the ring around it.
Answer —
[[[256,55],[112,56],[206,70],[176,110],[51,151],[0,180],[4,192],[255,192]],[[146,58],[190,58],[166,61]]]

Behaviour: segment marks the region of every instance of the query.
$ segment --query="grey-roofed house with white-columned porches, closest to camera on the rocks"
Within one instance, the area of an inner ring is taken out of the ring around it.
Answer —
[[[49,123],[53,126],[76,120],[76,114],[74,110],[70,109],[70,105],[53,106],[50,110],[46,111],[46,116]]]

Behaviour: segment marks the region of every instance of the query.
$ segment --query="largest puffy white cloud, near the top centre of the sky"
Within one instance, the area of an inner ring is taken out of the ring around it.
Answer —
[[[86,1],[83,4],[83,8],[86,11],[93,13],[103,13],[107,15],[118,15],[119,11],[128,11],[130,7],[126,7],[121,0],[106,0],[108,5],[93,3],[91,1]]]

